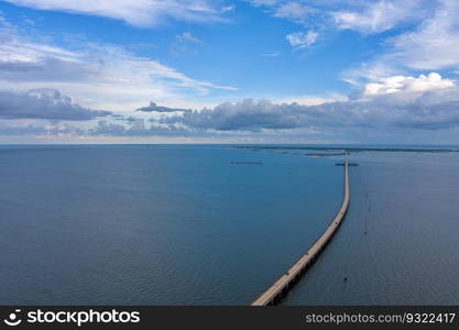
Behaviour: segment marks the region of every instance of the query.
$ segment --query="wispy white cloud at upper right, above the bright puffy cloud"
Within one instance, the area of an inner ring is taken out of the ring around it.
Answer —
[[[459,68],[458,16],[458,1],[438,1],[436,8],[423,16],[420,24],[386,38],[383,51],[358,67],[346,70],[343,79],[359,85],[362,80],[374,81],[387,76],[407,75],[413,69],[425,72]]]

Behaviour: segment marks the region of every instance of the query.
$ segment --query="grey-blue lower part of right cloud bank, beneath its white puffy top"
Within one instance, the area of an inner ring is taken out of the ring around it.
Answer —
[[[392,105],[378,101],[335,102],[320,106],[275,105],[266,100],[220,105],[183,116],[161,119],[197,130],[249,131],[345,128],[413,128],[438,130],[459,124],[459,101]]]

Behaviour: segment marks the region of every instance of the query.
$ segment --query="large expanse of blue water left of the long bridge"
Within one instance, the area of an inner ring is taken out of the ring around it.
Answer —
[[[1,146],[0,183],[3,305],[244,305],[342,198],[334,160],[227,146]]]

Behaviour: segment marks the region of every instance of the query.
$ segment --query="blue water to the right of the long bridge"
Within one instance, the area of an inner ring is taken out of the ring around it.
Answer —
[[[458,305],[459,153],[350,158],[348,216],[284,304]]]

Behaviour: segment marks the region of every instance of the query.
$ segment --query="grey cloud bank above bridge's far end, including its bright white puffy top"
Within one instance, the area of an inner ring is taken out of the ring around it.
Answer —
[[[195,130],[248,132],[362,127],[439,130],[459,125],[459,88],[451,80],[440,84],[442,79],[436,74],[386,80],[397,80],[398,85],[392,89],[384,84],[367,88],[361,98],[348,101],[302,106],[247,99],[162,118],[160,122]]]

